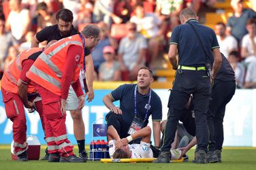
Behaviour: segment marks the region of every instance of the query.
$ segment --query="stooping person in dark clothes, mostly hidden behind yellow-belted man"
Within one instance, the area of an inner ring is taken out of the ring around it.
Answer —
[[[212,86],[212,95],[207,113],[208,126],[210,130],[210,143],[208,145],[208,163],[221,163],[221,150],[223,145],[223,118],[225,115],[225,107],[232,99],[236,91],[235,73],[227,61],[227,58],[221,54],[221,69],[214,78]],[[195,144],[193,139],[187,146],[180,148],[182,155],[185,155]]]

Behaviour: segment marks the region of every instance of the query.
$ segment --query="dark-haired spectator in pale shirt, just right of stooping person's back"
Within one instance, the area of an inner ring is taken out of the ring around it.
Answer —
[[[236,77],[236,86],[238,88],[243,88],[244,86],[244,75],[245,67],[242,63],[239,63],[239,53],[237,51],[231,51],[227,57],[231,67],[234,69]]]

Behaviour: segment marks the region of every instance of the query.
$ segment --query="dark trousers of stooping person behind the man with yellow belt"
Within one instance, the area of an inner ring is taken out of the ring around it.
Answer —
[[[210,130],[210,151],[221,150],[224,140],[223,118],[225,116],[225,107],[232,99],[236,91],[236,82],[223,82],[215,80],[212,86],[212,95],[210,98],[207,121]]]

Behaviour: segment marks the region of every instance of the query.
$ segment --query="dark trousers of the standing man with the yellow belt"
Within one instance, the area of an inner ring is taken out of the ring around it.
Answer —
[[[162,152],[170,151],[182,109],[185,108],[191,94],[193,94],[195,107],[197,150],[207,151],[209,139],[207,110],[211,94],[210,78],[206,71],[177,70],[168,103],[170,112],[167,116],[167,124],[162,138]]]

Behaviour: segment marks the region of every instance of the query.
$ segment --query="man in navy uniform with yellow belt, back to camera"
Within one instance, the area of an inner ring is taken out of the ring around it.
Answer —
[[[174,141],[178,120],[182,109],[185,108],[190,95],[193,95],[195,107],[195,125],[197,137],[196,160],[197,163],[207,163],[206,152],[208,145],[207,110],[211,94],[211,82],[221,67],[221,53],[214,31],[198,23],[196,13],[190,8],[180,12],[181,25],[172,32],[170,50],[168,53],[170,63],[176,71],[176,78],[168,101],[170,112],[163,134],[161,153],[153,163],[170,163],[170,146]],[[193,30],[197,30],[204,42],[206,52],[214,61],[212,74],[206,71],[206,54]],[[178,48],[178,64],[176,50]]]

